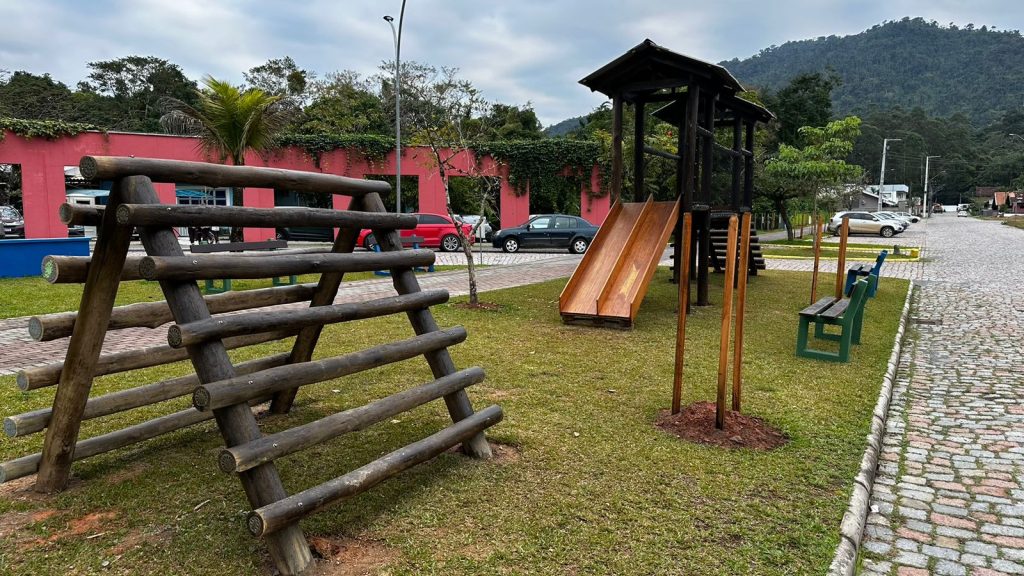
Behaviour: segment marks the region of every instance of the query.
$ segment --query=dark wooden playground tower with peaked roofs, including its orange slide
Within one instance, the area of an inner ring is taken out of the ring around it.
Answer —
[[[683,260],[683,221],[693,220],[689,270],[696,273],[695,305],[708,305],[709,268],[713,264],[712,173],[715,154],[731,161],[728,213],[750,213],[754,193],[754,129],[772,114],[739,97],[743,87],[724,68],[698,60],[644,40],[580,81],[612,102],[611,195],[613,206],[577,273],[559,299],[566,323],[631,327],[662,257],[669,236],[676,239],[673,279]],[[632,105],[633,203],[623,195],[623,114]],[[676,127],[679,154],[646,145],[647,107],[653,116]],[[715,141],[715,131],[731,128],[731,147]],[[676,164],[675,201],[646,198],[648,156]],[[723,214],[724,215],[724,214]],[[744,220],[748,221],[749,220]],[[748,227],[750,224],[748,223]],[[734,253],[734,252],[733,252]],[[752,273],[753,258],[749,259]]]

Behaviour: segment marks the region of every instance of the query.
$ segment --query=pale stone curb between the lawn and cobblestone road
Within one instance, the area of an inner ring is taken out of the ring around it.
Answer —
[[[900,353],[903,351],[903,336],[906,332],[907,319],[910,316],[910,299],[913,297],[914,284],[906,291],[903,312],[900,314],[899,327],[896,329],[896,341],[893,353],[889,357],[889,368],[882,379],[882,389],[879,401],[871,414],[871,431],[867,435],[867,448],[860,460],[860,470],[853,479],[853,494],[850,495],[850,505],[843,515],[840,524],[839,546],[828,567],[828,576],[853,576],[857,568],[857,552],[860,549],[860,539],[864,534],[864,524],[867,522],[867,510],[870,506],[871,489],[874,487],[874,472],[879,466],[879,456],[882,453],[882,439],[886,434],[886,420],[889,418],[889,402],[893,396],[893,381],[896,379],[896,368],[899,366]]]

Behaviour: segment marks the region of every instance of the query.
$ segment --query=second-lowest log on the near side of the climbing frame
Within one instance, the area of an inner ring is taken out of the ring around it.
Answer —
[[[366,406],[338,412],[248,444],[225,448],[220,452],[217,462],[220,469],[225,472],[242,472],[333,438],[361,430],[371,424],[482,381],[483,369],[460,370],[455,374],[402,390]]]

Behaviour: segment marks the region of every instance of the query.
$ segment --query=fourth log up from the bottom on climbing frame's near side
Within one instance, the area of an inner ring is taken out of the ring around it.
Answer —
[[[167,330],[167,343],[178,348],[216,338],[266,332],[271,329],[300,330],[307,326],[323,326],[420,310],[446,302],[447,299],[447,290],[426,290],[364,302],[312,306],[304,310],[259,311],[208,318],[199,322],[171,326]]]

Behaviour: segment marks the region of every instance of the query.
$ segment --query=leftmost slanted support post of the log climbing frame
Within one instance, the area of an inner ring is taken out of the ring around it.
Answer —
[[[118,294],[121,271],[131,244],[131,227],[118,225],[117,209],[125,199],[134,200],[137,178],[115,182],[103,212],[103,234],[96,240],[89,275],[82,292],[78,321],[68,343],[63,370],[53,399],[53,412],[46,428],[43,455],[36,477],[36,491],[63,490],[71,476],[75,443],[82,427],[82,414],[92,389],[92,374],[103,347],[106,325],[111,322],[114,298]]]

